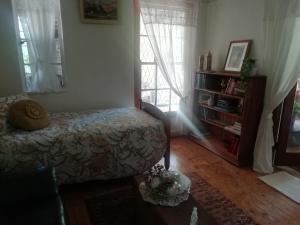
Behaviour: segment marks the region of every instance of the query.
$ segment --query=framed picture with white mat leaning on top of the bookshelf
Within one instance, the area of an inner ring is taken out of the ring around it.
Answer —
[[[250,53],[251,40],[231,41],[225,62],[225,71],[241,72],[245,57]]]

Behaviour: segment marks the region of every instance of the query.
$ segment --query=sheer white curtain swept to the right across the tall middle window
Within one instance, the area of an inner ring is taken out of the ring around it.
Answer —
[[[192,90],[197,27],[197,1],[140,0],[149,40],[158,66],[181,99]]]

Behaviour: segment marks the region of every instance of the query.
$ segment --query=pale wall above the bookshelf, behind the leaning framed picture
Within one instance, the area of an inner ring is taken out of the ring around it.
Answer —
[[[229,43],[252,39],[251,57],[261,68],[263,50],[262,0],[213,0],[207,3],[205,49],[213,54],[213,69],[223,70]],[[204,31],[203,31],[204,32]]]

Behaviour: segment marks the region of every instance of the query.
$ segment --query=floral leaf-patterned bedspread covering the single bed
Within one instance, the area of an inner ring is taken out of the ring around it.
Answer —
[[[37,131],[0,137],[0,170],[53,166],[58,183],[112,179],[146,171],[166,150],[161,121],[135,108],[55,113]]]

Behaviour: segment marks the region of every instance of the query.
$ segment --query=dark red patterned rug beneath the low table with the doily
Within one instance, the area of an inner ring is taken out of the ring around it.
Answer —
[[[196,173],[188,173],[192,180],[192,195],[198,203],[220,225],[257,225],[243,210],[237,208],[216,188]],[[133,182],[128,179],[104,194],[85,201],[92,225],[139,225],[135,218],[136,192]]]

